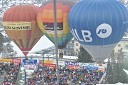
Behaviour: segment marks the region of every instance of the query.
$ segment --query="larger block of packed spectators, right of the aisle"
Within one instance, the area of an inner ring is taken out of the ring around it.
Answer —
[[[87,69],[59,69],[59,85],[95,85],[103,75],[103,71],[87,70]],[[57,76],[56,69],[44,67],[44,81],[43,81],[43,67],[39,66],[30,79],[28,85],[56,85]]]

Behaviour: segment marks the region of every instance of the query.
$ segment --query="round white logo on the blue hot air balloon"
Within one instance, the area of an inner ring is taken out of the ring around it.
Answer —
[[[111,33],[112,33],[112,27],[106,23],[99,25],[96,29],[96,34],[100,38],[107,38],[111,35]]]

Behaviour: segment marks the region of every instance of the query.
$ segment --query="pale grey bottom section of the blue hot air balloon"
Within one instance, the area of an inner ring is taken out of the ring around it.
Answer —
[[[84,49],[86,49],[86,51],[94,57],[94,60],[98,61],[104,61],[106,58],[111,57],[109,55],[116,45],[117,43],[104,46],[89,46],[81,44],[81,46],[84,47]]]

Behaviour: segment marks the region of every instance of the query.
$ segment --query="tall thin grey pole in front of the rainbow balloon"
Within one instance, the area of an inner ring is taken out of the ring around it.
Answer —
[[[57,20],[56,20],[56,0],[54,0],[54,29],[55,29],[55,52],[56,52],[56,76],[57,85],[59,85],[59,65],[58,65],[58,36],[57,36]]]

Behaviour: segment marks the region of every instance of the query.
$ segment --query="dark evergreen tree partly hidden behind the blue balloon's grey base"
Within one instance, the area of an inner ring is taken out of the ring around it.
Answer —
[[[81,46],[80,46],[80,52],[78,54],[78,61],[84,63],[94,62],[92,56]]]

